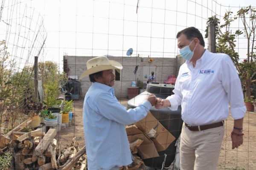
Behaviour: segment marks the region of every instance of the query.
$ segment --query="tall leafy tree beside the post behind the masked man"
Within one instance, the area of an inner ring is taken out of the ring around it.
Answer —
[[[235,20],[240,20],[242,27],[234,28],[232,25]],[[208,18],[207,24],[209,23],[215,24],[216,53],[225,53],[230,56],[241,84],[245,87],[245,97],[249,99],[252,93],[251,85],[256,82],[256,9],[252,6],[242,7],[236,15],[232,11],[227,11],[222,22],[217,15],[214,15]],[[208,26],[206,33],[208,33]],[[205,38],[207,37],[208,34]],[[247,54],[239,56],[236,45],[241,37],[247,40]]]

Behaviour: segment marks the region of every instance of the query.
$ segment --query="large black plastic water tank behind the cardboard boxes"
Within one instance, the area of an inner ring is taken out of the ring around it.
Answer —
[[[174,85],[166,84],[148,84],[146,91],[135,96],[127,102],[127,109],[136,108],[140,105],[149,93],[155,94],[157,97],[166,99],[166,97],[173,94]],[[158,152],[159,157],[143,159],[144,163],[148,167],[162,167],[164,154],[166,154],[165,167],[169,167],[172,161],[175,159],[176,146],[175,142],[180,136],[181,127],[183,121],[181,119],[181,107],[178,107],[177,111],[171,111],[169,108],[156,109],[154,106],[151,107],[150,112],[153,116],[165,127],[172,135],[176,138],[172,144],[167,147],[166,150]]]

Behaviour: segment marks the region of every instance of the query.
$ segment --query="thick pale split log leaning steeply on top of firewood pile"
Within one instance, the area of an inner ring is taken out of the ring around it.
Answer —
[[[35,148],[35,154],[37,156],[43,155],[44,151],[47,149],[49,143],[54,139],[57,134],[56,129],[49,129],[44,138],[39,142],[38,146]]]

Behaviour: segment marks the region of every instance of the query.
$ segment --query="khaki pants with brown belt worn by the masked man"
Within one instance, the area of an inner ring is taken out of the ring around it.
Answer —
[[[180,136],[180,170],[216,170],[224,126],[190,131],[183,123]]]

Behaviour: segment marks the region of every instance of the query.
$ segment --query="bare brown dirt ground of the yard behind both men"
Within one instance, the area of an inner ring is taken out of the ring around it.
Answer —
[[[57,133],[55,139],[62,147],[70,145],[72,139],[76,137],[80,148],[84,146],[83,130],[83,99],[74,102],[74,124]],[[120,103],[126,107],[128,99],[119,99]],[[233,118],[225,121],[226,134],[222,142],[221,153],[217,170],[256,170],[256,113],[247,112],[244,117],[244,143],[232,150],[230,133],[233,130]]]

